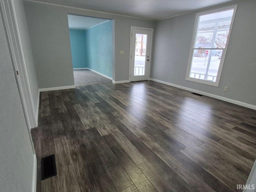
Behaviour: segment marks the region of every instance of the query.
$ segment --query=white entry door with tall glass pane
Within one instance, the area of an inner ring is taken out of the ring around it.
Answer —
[[[152,29],[132,27],[130,81],[148,80]]]

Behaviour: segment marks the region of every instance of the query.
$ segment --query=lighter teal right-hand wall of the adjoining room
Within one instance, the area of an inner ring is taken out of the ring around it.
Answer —
[[[112,20],[89,28],[85,32],[88,68],[112,78]]]

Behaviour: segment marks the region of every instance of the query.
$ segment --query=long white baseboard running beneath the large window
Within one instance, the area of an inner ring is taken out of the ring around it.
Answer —
[[[195,89],[191,89],[191,88],[183,87],[183,86],[180,86],[180,85],[176,85],[176,84],[160,81],[160,80],[153,79],[153,78],[149,78],[149,80],[155,81],[155,82],[158,82],[158,83],[162,83],[162,84],[166,84],[166,85],[170,85],[172,87],[184,89],[184,90],[187,90],[187,91],[195,92],[195,93],[202,94],[202,95],[205,95],[205,96],[208,96],[208,97],[212,97],[212,98],[215,98],[215,99],[219,99],[219,100],[222,100],[222,101],[226,101],[226,102],[229,102],[229,103],[233,103],[233,104],[236,104],[236,105],[239,105],[239,106],[243,106],[243,107],[246,107],[246,108],[250,108],[250,109],[256,110],[256,106],[255,105],[251,105],[251,104],[248,104],[248,103],[244,103],[244,102],[228,99],[228,98],[225,98],[225,97],[222,97],[222,96],[218,96],[218,95],[214,95],[214,94],[198,91],[198,90],[195,90]]]

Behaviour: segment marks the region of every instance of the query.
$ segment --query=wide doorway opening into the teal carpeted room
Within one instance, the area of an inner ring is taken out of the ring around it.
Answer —
[[[68,14],[75,86],[112,82],[114,20]]]

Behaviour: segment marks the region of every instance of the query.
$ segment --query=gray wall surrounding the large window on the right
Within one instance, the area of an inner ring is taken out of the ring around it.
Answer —
[[[219,87],[185,80],[196,12],[156,23],[150,77],[256,105],[256,1],[237,4]],[[224,92],[224,86],[228,86],[228,92]]]

